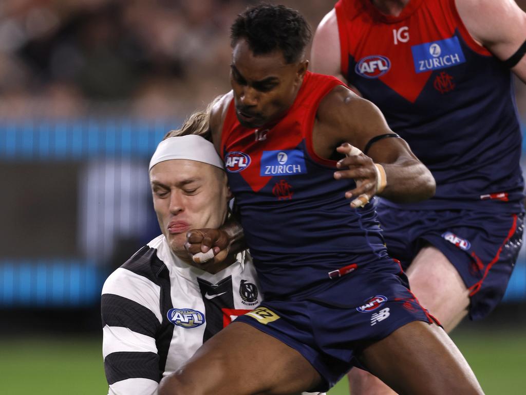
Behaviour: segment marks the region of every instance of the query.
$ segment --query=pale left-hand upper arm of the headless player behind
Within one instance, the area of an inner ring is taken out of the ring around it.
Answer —
[[[334,8],[323,17],[316,29],[310,52],[310,67],[315,73],[333,75],[345,81],[341,75],[340,36]]]

